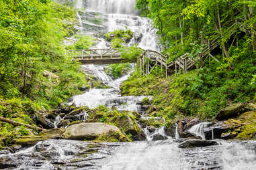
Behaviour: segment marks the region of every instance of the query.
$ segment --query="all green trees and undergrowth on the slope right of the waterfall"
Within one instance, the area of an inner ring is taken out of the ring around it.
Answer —
[[[167,79],[159,69],[139,78],[138,70],[124,82],[123,94],[155,96],[154,104],[167,119],[215,118],[224,106],[256,99],[255,1],[141,0],[136,7],[159,30],[162,53],[169,62],[189,53],[198,69]],[[214,50],[212,39],[220,43]],[[200,54],[205,48],[209,54],[203,60]]]

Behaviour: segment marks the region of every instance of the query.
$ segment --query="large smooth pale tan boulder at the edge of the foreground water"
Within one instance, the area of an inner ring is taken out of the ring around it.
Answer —
[[[108,133],[120,133],[116,126],[104,124],[101,122],[83,122],[69,126],[65,133],[62,134],[63,139],[75,140],[93,140],[99,135],[108,135]]]

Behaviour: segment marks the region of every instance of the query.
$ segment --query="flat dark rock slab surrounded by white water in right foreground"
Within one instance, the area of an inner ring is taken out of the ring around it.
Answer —
[[[216,141],[189,140],[179,144],[179,148],[207,147],[211,145],[218,145],[218,143]]]

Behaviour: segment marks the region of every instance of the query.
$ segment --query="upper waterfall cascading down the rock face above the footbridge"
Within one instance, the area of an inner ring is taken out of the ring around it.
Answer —
[[[151,19],[140,17],[135,9],[136,0],[78,0],[79,30],[97,40],[93,48],[107,48],[110,44],[103,39],[107,32],[117,29],[131,29],[134,36],[128,46],[137,44],[142,49],[159,50],[157,29]]]

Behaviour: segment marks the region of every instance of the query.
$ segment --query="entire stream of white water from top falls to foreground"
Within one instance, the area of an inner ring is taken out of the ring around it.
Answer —
[[[98,42],[94,48],[108,48],[110,45],[102,35],[114,29],[127,27],[134,31],[129,45],[138,44],[143,49],[159,49],[157,30],[151,20],[140,17],[134,9],[136,0],[78,0],[79,29],[85,35],[95,37]],[[98,18],[99,23],[91,22]],[[145,96],[121,96],[120,84],[134,70],[114,80],[104,72],[106,66],[87,65],[82,69],[110,86],[108,89],[92,88],[84,94],[73,96],[69,104],[95,108],[100,104],[118,110],[141,112],[140,103]],[[150,98],[150,96],[148,96]],[[143,116],[143,113],[141,113]],[[81,115],[86,120],[87,114]],[[57,116],[56,127],[60,122]],[[190,133],[205,138],[207,123],[196,124]],[[40,141],[33,147],[15,153],[0,152],[0,169],[102,169],[102,170],[162,170],[162,169],[256,169],[256,141],[224,141],[213,139],[218,145],[196,148],[179,148],[176,137],[170,137],[165,127],[154,131],[144,128],[146,141],[131,143],[91,143],[73,140]],[[165,141],[154,141],[154,135],[161,135]],[[4,167],[9,163],[9,167]],[[15,166],[11,166],[15,165]]]

